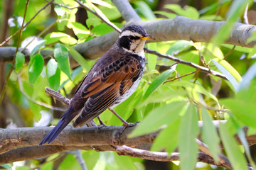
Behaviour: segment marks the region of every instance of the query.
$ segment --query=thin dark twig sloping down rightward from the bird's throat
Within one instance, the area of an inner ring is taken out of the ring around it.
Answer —
[[[216,71],[214,71],[214,70],[210,70],[210,69],[208,69],[208,68],[206,68],[206,67],[202,67],[202,66],[200,66],[200,65],[198,65],[198,64],[195,64],[195,63],[193,63],[193,62],[186,62],[186,61],[181,60],[181,59],[178,59],[178,58],[176,58],[176,57],[174,57],[174,56],[171,56],[171,55],[163,55],[163,54],[161,54],[161,53],[159,53],[159,52],[157,52],[157,51],[149,50],[149,49],[147,49],[147,48],[144,48],[144,50],[145,50],[145,52],[148,52],[148,53],[150,53],[150,54],[157,55],[157,56],[159,56],[159,57],[164,57],[164,58],[166,58],[166,59],[173,60],[173,61],[178,62],[178,63],[180,63],[180,64],[188,65],[188,66],[193,67],[193,68],[195,68],[195,69],[197,69],[197,70],[200,70],[201,72],[206,72],[206,73],[208,73],[208,74],[213,74],[213,75],[216,76],[216,77],[220,77],[221,79],[227,80],[227,78],[226,78],[223,74],[221,74],[221,73],[219,73],[219,72],[216,72]]]

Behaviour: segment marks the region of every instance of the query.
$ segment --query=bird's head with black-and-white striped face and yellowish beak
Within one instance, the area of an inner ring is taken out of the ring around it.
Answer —
[[[146,34],[146,30],[142,26],[133,25],[122,30],[118,43],[125,51],[138,54],[142,52],[146,40],[152,37],[152,35]]]

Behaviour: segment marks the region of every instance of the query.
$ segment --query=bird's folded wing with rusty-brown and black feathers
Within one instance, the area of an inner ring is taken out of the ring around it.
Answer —
[[[110,108],[114,101],[131,88],[142,69],[138,56],[128,55],[95,73],[95,77],[82,89],[81,97],[87,98],[87,101],[73,126],[84,125]]]

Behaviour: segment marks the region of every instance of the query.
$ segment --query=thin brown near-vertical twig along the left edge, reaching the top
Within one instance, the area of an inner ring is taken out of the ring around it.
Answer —
[[[28,2],[29,2],[29,0],[26,1],[26,6],[25,6],[25,11],[24,11],[24,15],[23,15],[23,21],[22,21],[22,24],[21,24],[21,28],[23,28],[23,25],[24,25],[24,23],[25,23],[26,11],[27,11],[27,8],[28,8]],[[21,42],[22,31],[23,31],[23,29],[18,30],[18,32],[20,32],[20,34],[18,35],[18,41],[17,41],[17,45],[16,45],[16,52],[15,52],[15,55],[14,55],[14,60],[13,60],[13,62],[11,63],[11,69],[10,69],[10,71],[9,71],[9,74],[8,74],[7,77],[6,77],[6,81],[5,81],[5,83],[4,83],[4,87],[3,87],[2,91],[1,91],[0,104],[1,104],[1,101],[3,100],[3,98],[4,98],[4,94],[5,94],[5,91],[6,91],[6,88],[7,88],[7,84],[8,84],[8,81],[9,81],[10,77],[11,77],[11,72],[13,72],[13,70],[14,70],[14,64],[15,64],[15,62],[16,62],[16,61],[15,61],[15,59],[16,59],[16,54],[17,54],[17,52],[18,52],[18,47],[19,47],[20,42]],[[0,46],[1,46],[1,45],[0,45]]]

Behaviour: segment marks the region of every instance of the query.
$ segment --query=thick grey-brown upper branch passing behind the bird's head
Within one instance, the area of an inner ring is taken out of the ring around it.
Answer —
[[[210,42],[212,35],[218,33],[224,21],[203,21],[176,16],[174,19],[164,19],[159,21],[133,21],[130,24],[139,24],[146,28],[147,33],[154,35],[149,42],[161,42],[168,40],[193,40],[194,42]],[[246,41],[256,30],[256,26],[235,23],[230,37],[226,44],[240,45],[243,47],[254,47],[256,41],[246,44]],[[85,59],[93,60],[102,56],[117,40],[118,33],[111,32],[87,42],[76,45],[74,48]],[[0,47],[0,62],[10,62],[14,58],[13,47]],[[43,56],[49,55],[48,52]]]

